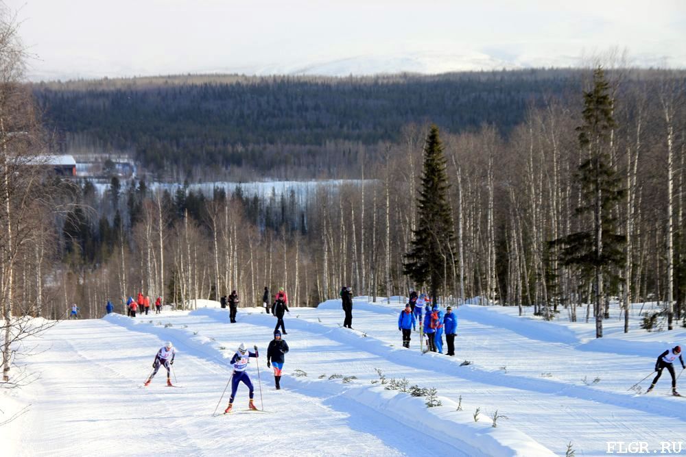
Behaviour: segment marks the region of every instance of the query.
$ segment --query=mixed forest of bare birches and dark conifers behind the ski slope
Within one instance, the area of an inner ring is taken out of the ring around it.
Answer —
[[[33,84],[46,149],[131,151],[143,173],[104,193],[45,178],[52,203],[16,254],[17,302],[97,317],[138,291],[178,306],[233,289],[257,306],[264,286],[303,306],[342,285],[428,291],[406,255],[440,228],[418,201],[442,188],[452,234],[428,260],[440,297],[593,321],[598,336],[624,319],[609,300],[659,300],[646,319],[683,325],[686,73],[600,67]],[[424,175],[430,132],[442,183]],[[304,200],[151,186],[236,176],[356,180]]]

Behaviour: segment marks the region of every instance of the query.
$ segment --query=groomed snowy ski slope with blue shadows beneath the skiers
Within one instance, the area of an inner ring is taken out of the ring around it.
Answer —
[[[663,350],[686,342],[683,328],[625,335],[613,311],[605,338],[595,340],[593,323],[462,306],[456,356],[449,357],[423,354],[417,332],[410,349],[402,347],[400,299],[355,299],[354,330],[342,328],[340,300],[329,300],[285,317],[290,351],[276,391],[265,358],[276,319],[240,308],[230,324],[228,310],[210,305],[62,321],[34,338],[25,370],[38,378],[0,393],[0,422],[29,405],[0,426],[0,454],[529,457],[564,456],[571,443],[576,456],[604,456],[608,443],[641,441],[652,454],[686,437],[686,399],[668,395],[666,371],[652,393],[628,390],[650,375]],[[142,387],[167,340],[178,351],[172,381],[180,388],[165,386],[164,369]],[[221,415],[228,361],[241,342],[259,347],[248,373],[265,412],[246,410],[241,384],[236,410]],[[403,392],[397,384],[405,380],[436,388],[441,406],[427,408],[429,399]]]

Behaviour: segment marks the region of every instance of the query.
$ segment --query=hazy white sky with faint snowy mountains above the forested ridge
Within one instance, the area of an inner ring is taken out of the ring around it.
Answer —
[[[5,0],[31,79],[573,66],[686,68],[685,0]],[[406,68],[410,67],[410,68]]]

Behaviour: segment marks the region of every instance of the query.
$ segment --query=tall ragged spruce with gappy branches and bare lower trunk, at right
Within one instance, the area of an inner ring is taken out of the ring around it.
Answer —
[[[620,177],[610,165],[614,100],[601,68],[593,72],[593,88],[584,92],[584,123],[576,127],[584,158],[576,173],[580,205],[575,210],[579,231],[560,240],[560,260],[577,267],[581,279],[593,282],[595,337],[602,338],[604,280],[617,284],[624,267],[626,236],[617,234],[615,208],[624,198]]]

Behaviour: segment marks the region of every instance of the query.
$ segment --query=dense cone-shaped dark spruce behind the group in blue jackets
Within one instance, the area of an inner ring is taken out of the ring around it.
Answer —
[[[448,203],[448,180],[445,156],[438,138],[438,127],[431,125],[424,146],[424,166],[421,188],[417,197],[417,227],[410,251],[405,254],[404,270],[421,286],[429,286],[429,294],[438,296],[450,274],[453,262],[455,234]]]

